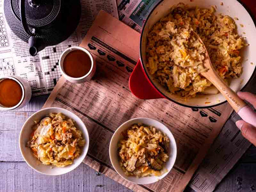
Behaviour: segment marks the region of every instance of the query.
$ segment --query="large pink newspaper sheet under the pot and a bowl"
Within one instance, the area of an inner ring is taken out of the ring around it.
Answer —
[[[140,34],[100,11],[80,46],[97,60],[92,81],[71,84],[61,77],[44,107],[62,107],[82,118],[90,134],[84,163],[134,191],[183,191],[213,140],[233,111],[228,103],[208,109],[190,109],[167,99],[140,100],[129,90],[128,79],[139,59]],[[108,154],[119,125],[135,117],[163,122],[178,146],[177,161],[164,179],[134,185],[119,177]]]

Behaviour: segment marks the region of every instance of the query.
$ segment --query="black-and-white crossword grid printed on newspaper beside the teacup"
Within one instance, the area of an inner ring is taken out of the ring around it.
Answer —
[[[53,90],[53,87],[57,84],[59,78],[61,77],[61,72],[59,69],[59,58],[61,53],[71,46],[73,45],[46,47],[41,52],[46,86],[50,88],[48,91]]]

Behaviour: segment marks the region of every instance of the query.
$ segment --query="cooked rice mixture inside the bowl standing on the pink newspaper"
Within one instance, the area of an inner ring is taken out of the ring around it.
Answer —
[[[126,175],[146,177],[166,172],[169,138],[153,126],[132,125],[118,143],[120,165]]]

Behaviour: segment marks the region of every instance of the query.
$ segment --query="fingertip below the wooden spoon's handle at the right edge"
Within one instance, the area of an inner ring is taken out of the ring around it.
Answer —
[[[256,146],[256,127],[243,120],[237,121],[236,126],[241,130],[243,136]]]

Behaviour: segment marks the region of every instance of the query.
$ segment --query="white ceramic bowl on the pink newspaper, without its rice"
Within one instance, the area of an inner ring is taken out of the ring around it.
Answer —
[[[169,150],[169,160],[165,163],[164,167],[168,170],[166,173],[163,175],[156,177],[156,176],[150,176],[150,177],[142,177],[142,178],[137,178],[134,176],[126,176],[124,174],[124,171],[122,170],[121,166],[119,165],[119,157],[118,157],[118,147],[117,144],[118,142],[123,139],[123,134],[122,132],[129,129],[131,125],[135,123],[143,123],[146,125],[154,126],[156,127],[157,130],[165,133],[167,137],[170,139],[170,150]],[[131,119],[130,121],[125,122],[121,126],[118,127],[118,129],[115,131],[113,134],[113,137],[111,138],[110,145],[109,145],[109,156],[110,156],[110,161],[116,170],[116,172],[121,175],[122,178],[126,179],[127,181],[137,183],[140,185],[145,185],[149,183],[154,183],[156,181],[159,181],[160,179],[163,179],[172,169],[176,156],[177,156],[177,146],[175,139],[171,133],[171,131],[162,123],[156,121],[155,119],[151,118],[134,118]]]

